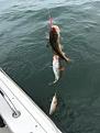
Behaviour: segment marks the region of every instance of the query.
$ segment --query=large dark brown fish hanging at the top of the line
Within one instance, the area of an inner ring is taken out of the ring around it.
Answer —
[[[52,25],[49,30],[49,45],[55,54],[67,63],[69,62],[69,58],[63,52],[63,45],[60,44],[60,30],[57,25]]]

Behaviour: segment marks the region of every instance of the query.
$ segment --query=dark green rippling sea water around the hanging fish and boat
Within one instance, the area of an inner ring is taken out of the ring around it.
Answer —
[[[47,9],[73,59],[55,86]],[[47,115],[57,90],[63,133],[100,133],[100,0],[0,0],[0,67]]]

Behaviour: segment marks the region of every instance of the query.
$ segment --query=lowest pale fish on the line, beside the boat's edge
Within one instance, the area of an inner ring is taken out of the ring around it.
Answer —
[[[57,96],[56,92],[52,99],[51,108],[49,108],[49,115],[52,115],[57,109]]]

